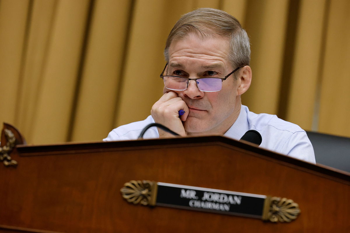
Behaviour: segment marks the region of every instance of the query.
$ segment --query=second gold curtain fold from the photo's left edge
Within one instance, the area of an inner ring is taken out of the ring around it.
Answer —
[[[16,126],[29,138],[33,132],[38,98],[43,86],[43,72],[47,64],[56,4],[57,1],[34,1],[30,8],[15,118]]]

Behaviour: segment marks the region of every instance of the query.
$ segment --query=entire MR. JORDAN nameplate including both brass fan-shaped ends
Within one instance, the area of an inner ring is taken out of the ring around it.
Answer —
[[[300,213],[291,199],[180,184],[132,180],[120,189],[133,204],[166,206],[187,210],[290,222]]]

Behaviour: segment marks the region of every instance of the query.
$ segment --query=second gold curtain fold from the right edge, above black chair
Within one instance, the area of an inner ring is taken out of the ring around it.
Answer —
[[[295,48],[286,102],[286,120],[311,130],[315,113],[320,68],[323,65],[322,46],[326,25],[326,1],[302,1],[296,28]],[[313,14],[310,14],[310,12]],[[283,95],[284,93],[282,93]]]

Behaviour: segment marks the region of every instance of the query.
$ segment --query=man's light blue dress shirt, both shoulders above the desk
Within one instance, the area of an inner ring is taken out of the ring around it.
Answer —
[[[154,123],[152,116],[144,121],[133,122],[112,130],[104,141],[134,140],[146,125]],[[247,106],[242,105],[236,122],[224,136],[239,140],[248,130],[256,130],[261,134],[261,148],[274,151],[290,157],[315,163],[314,149],[306,132],[298,125],[283,121],[276,115],[255,114]],[[158,138],[156,127],[149,128],[144,134],[145,139]]]

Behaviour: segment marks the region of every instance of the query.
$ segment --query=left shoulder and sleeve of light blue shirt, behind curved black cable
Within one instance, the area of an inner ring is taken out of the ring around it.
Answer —
[[[143,121],[132,122],[126,125],[121,125],[116,129],[113,129],[107,136],[103,139],[104,141],[120,141],[120,140],[136,140],[141,131],[149,124],[154,123],[152,116],[148,116]],[[158,138],[158,130],[155,126],[149,128],[144,134],[145,139]]]

